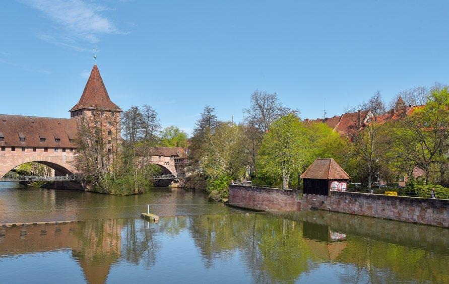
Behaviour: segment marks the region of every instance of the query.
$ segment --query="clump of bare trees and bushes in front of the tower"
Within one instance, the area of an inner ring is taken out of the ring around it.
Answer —
[[[121,123],[119,123],[119,119]],[[186,145],[186,133],[177,127],[161,129],[149,105],[132,106],[121,116],[100,111],[83,115],[78,123],[75,167],[88,190],[116,195],[145,192],[151,176],[161,168],[151,163],[156,146]],[[162,133],[162,135],[161,135]]]

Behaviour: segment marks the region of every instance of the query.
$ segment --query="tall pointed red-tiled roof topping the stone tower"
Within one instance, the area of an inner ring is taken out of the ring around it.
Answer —
[[[86,87],[84,87],[83,95],[81,96],[80,101],[71,110],[69,110],[69,112],[80,109],[122,111],[109,98],[96,64],[92,68],[92,72],[87,80]]]

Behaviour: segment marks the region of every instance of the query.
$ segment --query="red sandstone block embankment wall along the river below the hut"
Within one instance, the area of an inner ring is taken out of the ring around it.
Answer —
[[[259,210],[322,209],[440,227],[449,227],[449,200],[333,191],[300,194],[241,185],[229,186],[229,203]],[[241,204],[241,205],[239,205]]]

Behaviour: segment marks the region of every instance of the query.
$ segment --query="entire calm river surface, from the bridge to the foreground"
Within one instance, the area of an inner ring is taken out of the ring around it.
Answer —
[[[0,223],[83,220],[0,228],[2,283],[449,282],[443,228],[247,212],[184,189],[117,197],[0,186]],[[148,203],[158,223],[139,219]]]

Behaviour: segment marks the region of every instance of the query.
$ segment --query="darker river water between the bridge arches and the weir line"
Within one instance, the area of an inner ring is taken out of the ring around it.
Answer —
[[[145,194],[113,196],[76,190],[13,187],[0,183],[0,223],[136,218],[151,205],[159,216],[241,212],[210,201],[201,190],[152,188]],[[191,205],[200,204],[200,205]]]

